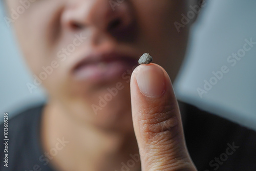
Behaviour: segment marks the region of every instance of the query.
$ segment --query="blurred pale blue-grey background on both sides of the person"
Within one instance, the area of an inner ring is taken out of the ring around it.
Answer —
[[[175,81],[179,100],[256,130],[256,1],[206,1],[191,29],[184,65]],[[0,122],[46,100],[43,88],[30,93],[33,77],[20,56],[0,6]],[[249,48],[249,44],[246,46]],[[245,53],[243,53],[245,52]],[[237,59],[230,57],[239,54]],[[223,72],[225,71],[225,72]],[[228,71],[228,72],[227,72]]]

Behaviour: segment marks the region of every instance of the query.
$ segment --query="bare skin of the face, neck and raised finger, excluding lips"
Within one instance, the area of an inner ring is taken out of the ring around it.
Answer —
[[[170,80],[175,80],[181,66],[190,27],[178,33],[174,22],[181,23],[181,14],[197,3],[131,0],[113,11],[105,0],[35,1],[15,20],[17,40],[35,75],[43,71],[42,66],[59,61],[56,54],[73,42],[75,34],[87,37],[42,81],[48,93],[40,128],[42,148],[49,152],[57,138],[69,141],[50,161],[53,167],[121,170],[120,163],[129,161],[130,154],[140,154],[141,162],[131,170],[196,170]],[[20,6],[19,1],[6,4],[9,11]],[[81,56],[110,51],[136,60],[148,52],[159,65],[137,67],[131,84],[121,76],[96,82],[74,79],[72,68]],[[146,94],[137,77],[150,85]],[[99,97],[117,82],[124,88],[95,115],[91,105],[98,104]]]

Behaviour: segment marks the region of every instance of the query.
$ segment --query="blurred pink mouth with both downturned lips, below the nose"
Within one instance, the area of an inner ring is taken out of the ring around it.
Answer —
[[[138,66],[138,59],[117,53],[91,54],[76,63],[73,75],[76,80],[103,82],[120,79],[127,71]]]

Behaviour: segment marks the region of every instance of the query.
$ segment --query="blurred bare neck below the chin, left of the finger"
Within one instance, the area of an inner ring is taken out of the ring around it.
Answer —
[[[41,141],[50,163],[59,170],[121,170],[138,157],[134,133],[106,132],[91,124],[78,123],[61,105],[50,102],[42,115]],[[62,146],[58,143],[63,140]],[[53,153],[52,148],[58,148]],[[52,152],[52,153],[51,153]],[[130,170],[140,170],[140,161]],[[124,166],[126,165],[126,166]]]

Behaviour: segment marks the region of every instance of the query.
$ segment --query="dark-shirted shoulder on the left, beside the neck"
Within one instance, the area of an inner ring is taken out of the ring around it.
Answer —
[[[8,155],[8,167],[5,167],[5,163],[2,162],[0,164],[0,170],[15,170],[15,165],[19,165],[22,168],[23,166],[26,167],[26,163],[22,163],[26,155],[32,152],[36,154],[38,149],[37,136],[43,106],[44,104],[40,104],[28,108],[19,112],[13,118],[8,118],[6,121],[8,124],[2,123],[0,125],[0,130],[6,130],[5,133],[1,131],[2,134],[4,133],[1,137],[7,136],[1,138],[0,143],[8,144],[7,146],[0,146],[0,157],[4,158],[6,154]]]

